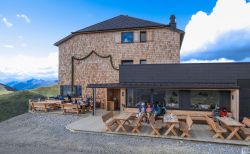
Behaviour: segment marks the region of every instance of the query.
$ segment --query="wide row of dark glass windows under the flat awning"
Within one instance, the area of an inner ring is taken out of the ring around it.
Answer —
[[[141,102],[158,103],[167,109],[211,111],[215,106],[230,109],[230,93],[219,90],[127,89],[128,107],[136,107]]]

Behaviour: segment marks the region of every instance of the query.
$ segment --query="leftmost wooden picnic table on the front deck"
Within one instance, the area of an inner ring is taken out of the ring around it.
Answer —
[[[133,113],[127,113],[127,112],[122,112],[116,116],[114,116],[114,119],[118,123],[118,127],[116,128],[116,132],[118,132],[120,129],[122,129],[124,132],[127,132],[127,130],[124,127],[124,124],[126,122],[129,123],[129,118],[133,115]]]

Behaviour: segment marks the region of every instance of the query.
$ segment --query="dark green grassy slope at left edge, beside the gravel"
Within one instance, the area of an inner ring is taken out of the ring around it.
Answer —
[[[45,97],[30,91],[0,95],[0,122],[27,112],[29,99],[38,98]]]

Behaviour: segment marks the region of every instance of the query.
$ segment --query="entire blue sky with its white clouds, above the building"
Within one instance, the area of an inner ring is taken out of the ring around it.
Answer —
[[[0,82],[56,78],[53,43],[120,14],[166,24],[175,14],[182,62],[249,61],[248,10],[246,0],[0,0]]]

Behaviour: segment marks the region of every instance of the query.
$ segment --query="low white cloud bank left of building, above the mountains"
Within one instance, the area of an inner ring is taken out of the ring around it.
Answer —
[[[50,53],[46,57],[16,55],[11,58],[0,57],[0,74],[16,79],[57,78],[58,53]]]

